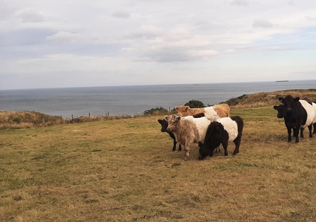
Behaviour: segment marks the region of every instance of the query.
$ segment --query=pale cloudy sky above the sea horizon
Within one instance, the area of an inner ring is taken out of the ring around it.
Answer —
[[[315,0],[0,0],[0,90],[316,79]]]

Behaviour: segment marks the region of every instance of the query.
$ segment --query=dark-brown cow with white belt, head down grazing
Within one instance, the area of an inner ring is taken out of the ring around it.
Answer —
[[[239,153],[243,127],[244,121],[240,116],[223,117],[211,122],[206,130],[204,144],[199,142],[199,160],[213,156],[214,149],[221,144],[225,156],[228,156],[228,141],[233,141],[235,144],[233,155]]]

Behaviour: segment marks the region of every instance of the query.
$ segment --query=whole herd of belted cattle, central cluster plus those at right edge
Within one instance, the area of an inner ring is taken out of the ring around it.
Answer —
[[[316,133],[316,102],[312,103],[307,98],[300,100],[287,95],[279,97],[281,105],[275,105],[278,111],[277,117],[283,118],[288,130],[288,142],[292,140],[291,132],[295,142],[298,143],[298,133],[303,138],[303,130],[308,127],[310,137]],[[161,124],[161,132],[167,132],[173,139],[172,151],[185,148],[185,160],[189,159],[189,146],[193,143],[199,144],[199,160],[206,156],[213,156],[214,150],[219,151],[222,144],[225,156],[228,156],[228,141],[233,141],[235,151],[239,153],[239,146],[244,127],[243,119],[240,116],[230,117],[230,107],[221,103],[211,107],[190,108],[180,105],[175,107],[177,115],[166,115],[165,119],[158,119]],[[312,127],[314,126],[314,132]]]

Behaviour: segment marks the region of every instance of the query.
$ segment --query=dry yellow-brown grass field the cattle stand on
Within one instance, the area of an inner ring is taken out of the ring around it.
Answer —
[[[172,152],[163,116],[0,132],[0,221],[316,221],[316,135],[232,109],[240,153]]]

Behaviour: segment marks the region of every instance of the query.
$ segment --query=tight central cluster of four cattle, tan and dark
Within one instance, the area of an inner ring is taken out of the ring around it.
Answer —
[[[229,117],[230,107],[227,104],[203,108],[180,105],[175,110],[178,115],[165,116],[158,122],[161,132],[168,132],[173,139],[172,151],[175,151],[177,143],[178,151],[182,150],[182,146],[185,148],[185,160],[189,159],[189,146],[192,143],[199,143],[199,160],[213,156],[220,144],[225,156],[228,156],[228,141],[235,144],[233,155],[239,152],[244,123],[239,116]]]

